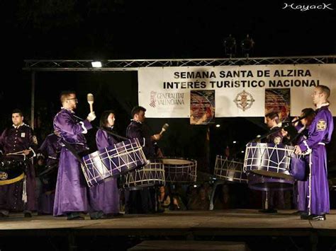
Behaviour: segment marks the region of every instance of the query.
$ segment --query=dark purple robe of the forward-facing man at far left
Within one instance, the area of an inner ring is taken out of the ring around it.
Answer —
[[[26,185],[27,185],[27,203],[23,204],[23,180],[9,184],[0,185],[0,209],[6,211],[35,211],[35,170],[33,167],[33,156],[35,156],[34,148],[37,142],[34,140],[33,129],[27,124],[22,124],[17,128],[12,126],[5,129],[1,134],[0,146],[4,150],[4,155],[31,149],[28,156],[25,158],[27,165],[26,170]],[[16,158],[23,160],[23,156]]]

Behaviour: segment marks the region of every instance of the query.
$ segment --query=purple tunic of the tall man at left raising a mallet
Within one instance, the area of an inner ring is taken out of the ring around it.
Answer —
[[[62,109],[54,118],[54,129],[62,140],[72,144],[78,152],[87,150],[86,134],[92,126],[88,120],[77,122],[74,112]],[[88,211],[86,181],[79,160],[62,146],[55,191],[54,216]]]

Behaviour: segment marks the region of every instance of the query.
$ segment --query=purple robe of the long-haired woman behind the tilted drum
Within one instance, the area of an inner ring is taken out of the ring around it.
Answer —
[[[111,134],[99,129],[96,133],[98,150],[118,143]],[[93,211],[103,211],[104,214],[119,213],[119,189],[116,179],[108,179],[103,183],[90,187],[90,205]]]

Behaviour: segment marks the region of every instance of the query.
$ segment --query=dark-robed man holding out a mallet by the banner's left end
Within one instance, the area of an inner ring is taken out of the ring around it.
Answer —
[[[161,139],[161,134],[150,134],[145,122],[145,107],[135,106],[132,110],[130,124],[126,129],[126,136],[129,139],[138,138],[142,144],[142,150],[147,159],[155,157],[154,141]],[[155,211],[155,190],[151,187],[144,187],[139,190],[125,191],[125,213],[126,214],[149,214]]]

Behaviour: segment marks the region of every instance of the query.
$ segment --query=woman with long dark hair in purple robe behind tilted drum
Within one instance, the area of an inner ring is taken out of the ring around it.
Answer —
[[[108,134],[106,131],[113,132],[115,114],[113,110],[104,111],[100,119],[100,127],[96,133],[96,145],[98,150],[113,146],[118,143],[116,136]],[[90,204],[94,211],[103,212],[103,218],[112,218],[119,214],[119,189],[117,179],[108,179],[99,185],[89,188]]]

